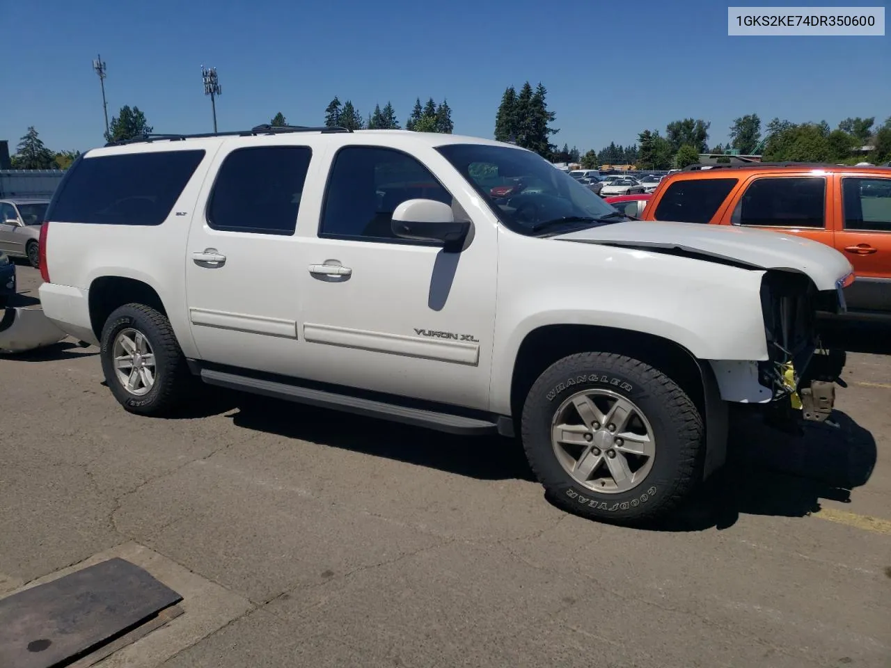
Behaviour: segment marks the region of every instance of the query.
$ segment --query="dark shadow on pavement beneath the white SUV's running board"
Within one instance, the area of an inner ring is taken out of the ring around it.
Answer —
[[[482,480],[533,481],[519,441],[454,436],[339,411],[245,395],[236,427],[264,431]]]

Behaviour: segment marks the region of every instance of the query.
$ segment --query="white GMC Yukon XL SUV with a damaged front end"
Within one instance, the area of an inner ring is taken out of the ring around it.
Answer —
[[[553,500],[625,524],[723,463],[728,403],[822,420],[843,365],[814,334],[818,305],[844,307],[834,249],[630,221],[482,139],[147,136],[78,159],[47,221],[45,314],[102,347],[128,411],[200,379],[516,433]]]

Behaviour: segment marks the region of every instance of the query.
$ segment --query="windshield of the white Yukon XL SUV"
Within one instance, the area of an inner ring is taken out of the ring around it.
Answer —
[[[535,234],[544,231],[541,224],[552,221],[596,224],[599,221],[592,218],[616,214],[616,209],[590,188],[531,151],[486,144],[448,144],[437,151],[514,232]]]

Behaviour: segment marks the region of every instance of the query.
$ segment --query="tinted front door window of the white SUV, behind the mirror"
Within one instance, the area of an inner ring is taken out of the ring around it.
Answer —
[[[421,243],[398,239],[390,229],[396,207],[405,200],[419,199],[452,206],[452,195],[410,155],[349,146],[334,158],[319,236]]]

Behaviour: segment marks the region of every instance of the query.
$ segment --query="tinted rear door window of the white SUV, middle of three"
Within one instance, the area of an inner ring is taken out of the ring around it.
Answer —
[[[210,194],[208,226],[226,232],[293,234],[312,156],[305,146],[232,151]]]

